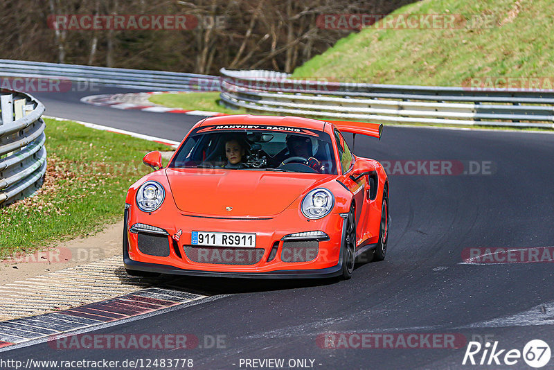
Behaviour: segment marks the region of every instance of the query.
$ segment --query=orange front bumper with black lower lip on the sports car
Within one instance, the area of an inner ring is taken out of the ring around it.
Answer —
[[[333,276],[339,276],[342,273],[342,241],[344,240],[344,233],[346,222],[343,222],[343,218],[340,215],[330,215],[333,220],[326,221],[327,224],[333,224],[334,232],[323,229],[323,231],[330,234],[330,240],[321,242],[318,256],[313,261],[308,262],[294,262],[285,263],[280,260],[280,247],[277,256],[271,261],[268,260],[268,255],[271,253],[272,246],[276,243],[275,240],[280,240],[285,234],[292,234],[290,231],[291,225],[281,225],[282,227],[278,231],[271,231],[271,233],[259,233],[260,244],[265,249],[264,256],[259,263],[254,265],[225,265],[225,264],[204,264],[195,263],[190,261],[186,254],[184,254],[184,245],[189,238],[190,230],[199,229],[199,224],[189,227],[188,231],[184,231],[181,240],[182,243],[178,243],[178,247],[181,251],[181,256],[175,254],[174,248],[171,248],[170,256],[150,256],[144,255],[138,249],[136,244],[137,234],[129,232],[129,224],[139,221],[136,211],[131,211],[131,214],[125,210],[125,229],[123,233],[123,262],[125,268],[128,270],[139,270],[143,272],[156,272],[161,274],[176,274],[176,275],[188,275],[188,276],[216,276],[216,277],[239,277],[239,278],[252,278],[252,279],[313,279],[313,278],[330,278]],[[139,217],[141,213],[138,213]],[[130,221],[128,220],[130,219]],[[290,218],[288,218],[290,220]],[[142,221],[142,220],[141,220]],[[205,223],[205,221],[203,221]],[[214,222],[214,221],[211,221]],[[213,227],[217,230],[218,221],[216,224],[211,224],[206,227]],[[221,220],[219,222],[222,222]],[[260,226],[260,221],[247,221],[255,222]],[[275,223],[276,220],[267,221],[268,224]],[[154,223],[154,222],[152,222]],[[194,223],[194,222],[193,222]],[[242,222],[244,224],[244,222]],[[277,220],[277,224],[279,224]],[[294,224],[294,231],[306,231],[298,230],[298,222],[292,222]],[[164,225],[170,235],[177,232],[177,227],[170,227],[170,225]],[[267,225],[266,225],[267,226]],[[338,226],[338,230],[336,227]],[[235,232],[244,232],[249,226],[243,226],[242,228],[233,228]],[[227,231],[229,231],[229,225],[227,224]],[[282,235],[281,235],[282,234]],[[129,238],[130,237],[130,238]],[[257,240],[257,244],[258,244]],[[130,243],[129,243],[130,241]],[[171,241],[171,240],[170,240]],[[283,242],[280,242],[280,246]],[[261,247],[261,246],[260,246]],[[323,249],[323,250],[322,250]],[[322,253],[324,252],[324,253]]]

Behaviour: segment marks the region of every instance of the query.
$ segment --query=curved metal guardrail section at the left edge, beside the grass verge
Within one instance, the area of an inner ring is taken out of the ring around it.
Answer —
[[[0,90],[0,207],[34,193],[46,173],[44,105],[28,94]]]

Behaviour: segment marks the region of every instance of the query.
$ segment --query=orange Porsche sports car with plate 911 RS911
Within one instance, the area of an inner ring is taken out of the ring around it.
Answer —
[[[357,256],[385,258],[388,177],[342,132],[382,125],[281,116],[199,121],[165,168],[125,201],[129,274],[350,279]],[[355,137],[355,136],[354,136]]]

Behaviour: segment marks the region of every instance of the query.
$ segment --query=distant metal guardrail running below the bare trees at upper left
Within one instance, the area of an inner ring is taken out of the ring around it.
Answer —
[[[146,90],[219,91],[219,78],[195,73],[0,59],[0,76],[50,78]]]

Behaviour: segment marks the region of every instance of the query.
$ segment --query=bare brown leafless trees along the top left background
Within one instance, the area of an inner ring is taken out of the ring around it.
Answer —
[[[319,28],[318,16],[386,14],[413,1],[3,0],[0,50],[2,58],[107,67],[212,74],[221,67],[290,72],[355,32]],[[189,30],[66,30],[46,21],[56,14],[186,14],[196,17],[198,24]]]

